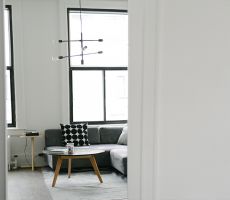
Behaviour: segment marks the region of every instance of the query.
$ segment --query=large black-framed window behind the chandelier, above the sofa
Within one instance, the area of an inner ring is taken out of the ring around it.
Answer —
[[[80,39],[79,9],[68,9],[69,40]],[[69,57],[70,121],[90,124],[126,123],[128,118],[128,15],[126,10],[82,9],[85,53]],[[68,43],[69,55],[79,54],[80,43]]]

